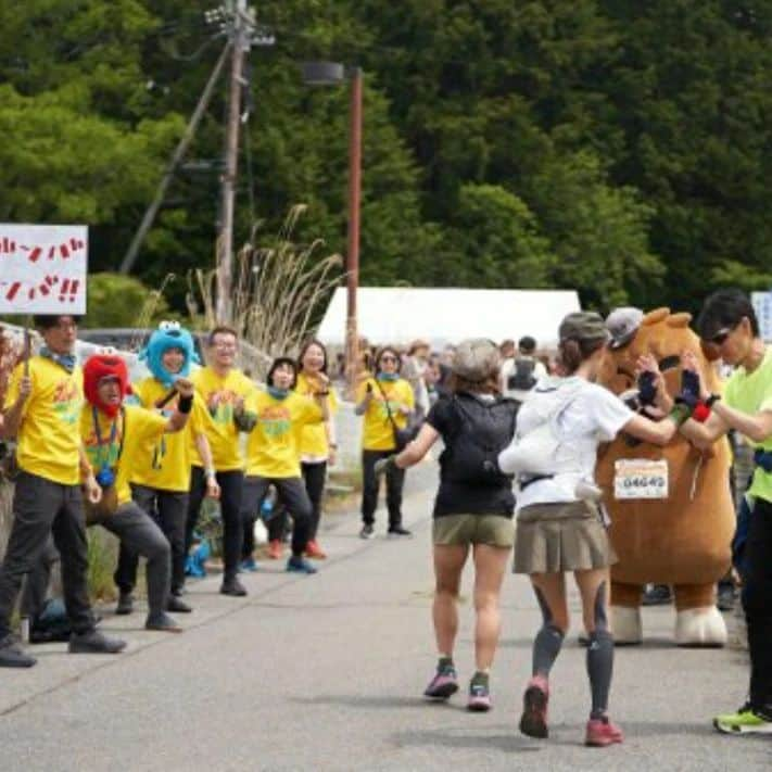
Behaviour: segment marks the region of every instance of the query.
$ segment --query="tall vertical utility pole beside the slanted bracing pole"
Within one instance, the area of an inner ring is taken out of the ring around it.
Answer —
[[[217,321],[231,321],[233,286],[233,208],[236,176],[239,161],[239,123],[241,117],[241,85],[245,48],[246,0],[235,0],[233,46],[230,67],[228,126],[225,142],[225,175],[223,177],[223,224],[217,242]]]

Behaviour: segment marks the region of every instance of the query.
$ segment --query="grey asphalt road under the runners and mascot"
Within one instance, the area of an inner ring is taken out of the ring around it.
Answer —
[[[647,642],[618,649],[611,712],[624,745],[581,744],[589,710],[575,628],[553,679],[550,738],[519,735],[539,613],[528,583],[506,580],[504,636],[492,673],[494,710],[470,714],[420,694],[434,667],[430,501],[434,471],[408,477],[410,541],[357,537],[355,514],[330,519],[330,559],[316,577],[278,564],[244,578],[243,599],[218,578],[191,585],[181,635],[148,633],[143,613],[113,617],[117,657],[35,647],[38,666],[0,671],[0,770],[770,770],[772,739],[724,737],[710,717],[744,698],[736,649],[671,644],[672,611],[647,609]],[[379,514],[380,516],[380,514]],[[471,675],[470,573],[456,662]],[[572,603],[578,610],[577,598]],[[574,615],[578,620],[579,615]],[[577,622],[578,623],[578,622]]]

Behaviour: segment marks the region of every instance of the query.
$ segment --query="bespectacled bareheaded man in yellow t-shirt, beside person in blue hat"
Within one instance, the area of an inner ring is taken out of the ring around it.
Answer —
[[[192,448],[193,466],[190,473],[186,552],[193,543],[201,503],[206,492],[206,479],[216,477],[220,489],[223,516],[224,573],[220,593],[243,596],[246,589],[237,572],[241,558],[243,527],[241,502],[244,484],[244,459],[241,456],[239,432],[254,426],[255,384],[236,367],[238,338],[229,327],[215,327],[206,341],[207,366],[197,370],[191,380],[197,398],[204,407],[204,432],[212,448],[212,468],[203,466],[198,448]]]

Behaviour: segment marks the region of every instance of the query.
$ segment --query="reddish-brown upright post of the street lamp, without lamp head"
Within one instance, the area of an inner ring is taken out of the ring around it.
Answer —
[[[349,251],[346,254],[345,357],[349,392],[359,375],[359,338],[356,291],[359,286],[359,208],[362,203],[362,69],[351,72],[351,127],[349,131]]]

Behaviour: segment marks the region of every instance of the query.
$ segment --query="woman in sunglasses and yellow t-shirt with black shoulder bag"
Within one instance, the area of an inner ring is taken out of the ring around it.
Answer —
[[[400,353],[391,347],[381,349],[375,362],[375,377],[359,382],[356,394],[356,413],[365,417],[362,434],[362,539],[372,539],[378,507],[379,479],[376,461],[388,458],[396,451],[394,425],[405,429],[415,407],[413,388],[400,377]],[[404,469],[392,467],[387,472],[387,508],[389,535],[410,536],[402,524],[402,490]]]

